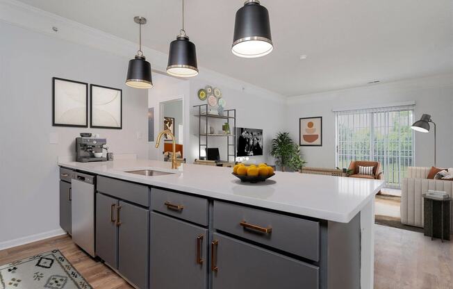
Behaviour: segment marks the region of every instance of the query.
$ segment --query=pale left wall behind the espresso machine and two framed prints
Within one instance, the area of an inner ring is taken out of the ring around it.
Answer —
[[[0,35],[1,248],[59,230],[57,156],[73,154],[80,132],[106,137],[115,154],[147,158],[148,149],[147,92],[124,85],[127,58],[3,22]],[[51,126],[53,76],[121,88],[123,129]],[[58,144],[49,144],[50,133]]]

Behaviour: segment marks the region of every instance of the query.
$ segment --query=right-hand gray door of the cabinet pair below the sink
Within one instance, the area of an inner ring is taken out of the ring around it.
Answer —
[[[148,288],[149,210],[119,204],[118,271],[138,288]]]

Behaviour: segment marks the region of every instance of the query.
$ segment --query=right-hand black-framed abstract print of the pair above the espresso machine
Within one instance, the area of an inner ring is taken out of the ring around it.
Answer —
[[[90,127],[122,129],[122,90],[90,85]]]

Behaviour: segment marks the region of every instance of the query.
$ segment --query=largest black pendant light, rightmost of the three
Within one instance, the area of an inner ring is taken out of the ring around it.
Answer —
[[[258,0],[246,1],[236,12],[231,51],[236,56],[255,58],[269,54],[272,49],[269,12]]]

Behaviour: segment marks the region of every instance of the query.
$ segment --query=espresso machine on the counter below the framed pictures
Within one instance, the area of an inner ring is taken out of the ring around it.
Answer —
[[[76,161],[81,163],[106,161],[107,158],[102,156],[106,144],[106,138],[76,138]]]

